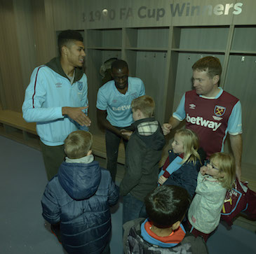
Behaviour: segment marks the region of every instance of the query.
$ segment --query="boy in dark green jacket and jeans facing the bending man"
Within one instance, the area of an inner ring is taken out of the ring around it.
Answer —
[[[123,195],[123,223],[147,216],[144,197],[157,186],[159,161],[165,139],[161,125],[152,115],[154,100],[144,95],[132,101],[135,131],[126,147],[126,174],[120,184]]]

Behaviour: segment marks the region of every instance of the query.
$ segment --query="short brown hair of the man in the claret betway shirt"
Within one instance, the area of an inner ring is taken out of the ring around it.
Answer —
[[[192,69],[193,71],[207,71],[209,78],[222,75],[222,64],[217,57],[203,57],[194,63]]]

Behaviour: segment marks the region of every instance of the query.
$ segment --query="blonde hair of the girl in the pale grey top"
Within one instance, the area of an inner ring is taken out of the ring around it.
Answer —
[[[231,189],[236,178],[236,169],[234,157],[229,153],[214,153],[210,156],[210,161],[217,162],[219,174],[217,180],[223,188]]]

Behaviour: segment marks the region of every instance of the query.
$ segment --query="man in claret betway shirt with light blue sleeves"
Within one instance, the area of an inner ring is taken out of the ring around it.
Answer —
[[[222,66],[217,57],[203,57],[193,66],[194,90],[186,92],[177,111],[168,123],[163,124],[163,134],[186,119],[187,129],[192,129],[200,139],[207,157],[222,152],[229,133],[231,150],[236,161],[236,176],[241,179],[242,113],[241,102],[218,87]]]

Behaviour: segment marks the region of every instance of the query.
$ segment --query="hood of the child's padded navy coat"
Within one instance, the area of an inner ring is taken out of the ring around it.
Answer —
[[[60,185],[72,197],[82,200],[93,196],[100,185],[101,171],[98,162],[62,162],[58,171]]]

